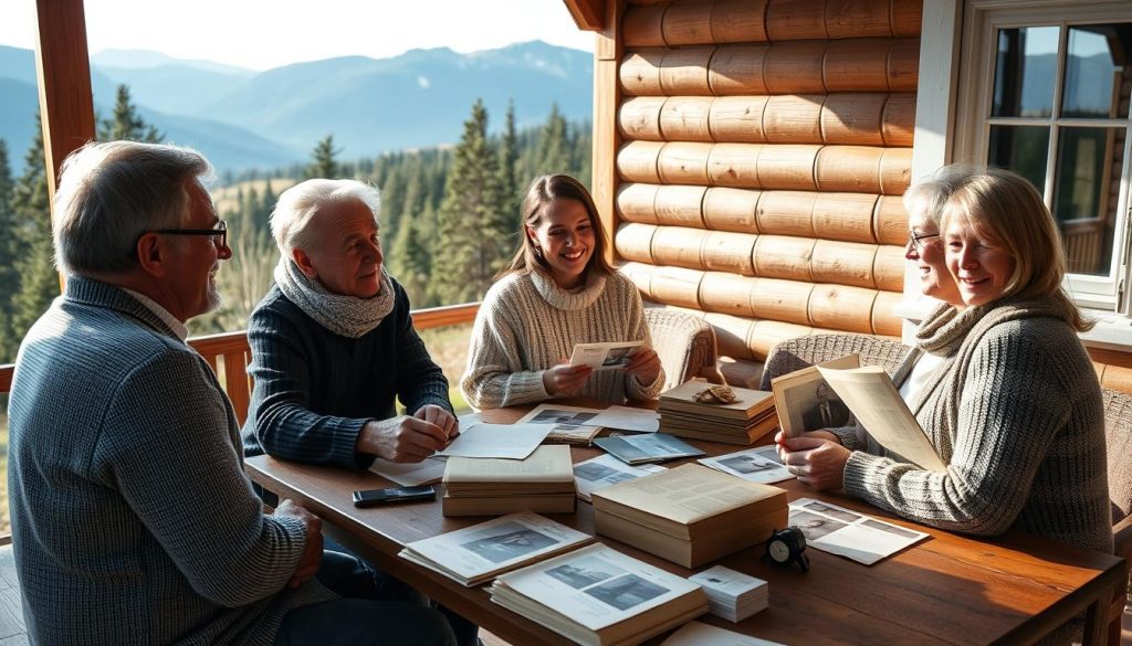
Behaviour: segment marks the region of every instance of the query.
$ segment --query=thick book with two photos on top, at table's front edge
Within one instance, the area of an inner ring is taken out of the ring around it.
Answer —
[[[576,644],[640,644],[707,610],[703,588],[597,544],[500,576],[491,601]]]

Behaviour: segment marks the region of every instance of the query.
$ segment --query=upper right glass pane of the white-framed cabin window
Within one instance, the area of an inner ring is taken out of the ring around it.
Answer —
[[[1132,25],[1070,27],[1063,117],[1127,117]]]

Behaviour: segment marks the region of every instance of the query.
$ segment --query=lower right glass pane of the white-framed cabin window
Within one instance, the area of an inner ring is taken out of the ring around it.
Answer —
[[[1108,275],[1126,133],[1124,128],[1063,128],[1058,135],[1053,212],[1073,274]]]

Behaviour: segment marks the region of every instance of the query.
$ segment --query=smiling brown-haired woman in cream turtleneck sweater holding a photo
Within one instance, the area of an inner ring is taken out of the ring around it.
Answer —
[[[461,388],[478,408],[555,397],[650,399],[664,380],[641,295],[604,259],[593,198],[569,175],[544,175],[523,200],[522,244],[475,317]],[[568,365],[578,343],[641,341],[624,368]]]

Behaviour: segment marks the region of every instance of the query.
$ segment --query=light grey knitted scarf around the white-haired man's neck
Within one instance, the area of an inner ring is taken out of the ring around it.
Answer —
[[[318,325],[338,336],[359,338],[381,325],[393,311],[393,283],[381,267],[381,288],[369,299],[333,294],[316,278],[299,270],[294,260],[283,257],[275,266],[275,284],[292,303]]]

